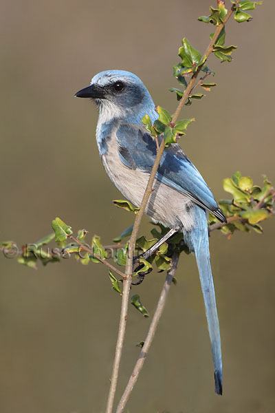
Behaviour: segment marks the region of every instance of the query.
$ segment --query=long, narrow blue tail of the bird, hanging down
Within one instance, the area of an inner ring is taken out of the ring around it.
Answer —
[[[217,394],[222,394],[221,337],[219,335],[219,319],[210,265],[206,212],[197,205],[193,211],[195,228],[191,231],[184,231],[184,240],[190,250],[195,252],[197,260],[212,348],[215,391]]]

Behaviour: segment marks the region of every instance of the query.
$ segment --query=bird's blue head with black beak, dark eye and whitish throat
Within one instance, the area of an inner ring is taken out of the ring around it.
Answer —
[[[91,79],[91,85],[81,89],[76,96],[96,102],[101,122],[127,119],[140,123],[145,114],[152,120],[157,118],[153,100],[140,78],[124,70],[96,74]]]

